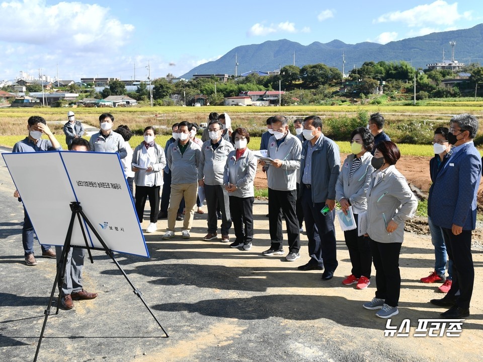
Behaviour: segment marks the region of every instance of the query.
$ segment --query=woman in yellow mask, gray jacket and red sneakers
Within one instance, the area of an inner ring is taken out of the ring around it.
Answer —
[[[359,225],[359,214],[367,209],[366,193],[371,181],[374,168],[371,165],[372,148],[374,137],[365,128],[356,128],[351,133],[352,153],[347,156],[342,164],[342,169],[336,183],[336,198],[341,204],[342,210],[352,206],[354,219]],[[372,254],[367,236],[358,236],[357,228],[344,232],[349,256],[351,258],[351,275],[345,278],[344,285],[356,284],[357,289],[365,289],[369,286],[371,278]]]

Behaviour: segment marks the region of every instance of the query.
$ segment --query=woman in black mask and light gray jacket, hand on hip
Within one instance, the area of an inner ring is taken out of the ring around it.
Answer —
[[[404,240],[404,222],[413,218],[418,207],[406,178],[394,166],[400,157],[394,142],[379,142],[371,160],[375,171],[367,190],[367,235],[376,269],[377,290],[375,298],[363,307],[380,309],[376,313],[380,318],[399,313],[399,252]]]

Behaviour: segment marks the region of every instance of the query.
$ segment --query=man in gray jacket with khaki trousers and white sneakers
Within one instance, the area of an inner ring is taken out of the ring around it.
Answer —
[[[171,197],[168,209],[168,231],[163,239],[175,236],[176,215],[181,199],[185,198],[185,219],[183,222],[183,239],[189,239],[193,224],[193,207],[198,193],[198,165],[200,163],[200,147],[190,139],[191,124],[183,121],[178,124],[179,139],[170,144],[166,161],[171,170]]]

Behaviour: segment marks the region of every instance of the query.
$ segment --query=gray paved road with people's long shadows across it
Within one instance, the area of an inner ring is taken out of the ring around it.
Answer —
[[[55,261],[38,258],[24,264],[22,206],[3,159],[0,160],[0,361],[33,360],[43,311],[55,276]],[[52,192],[39,180],[39,192]],[[204,207],[206,210],[206,206]],[[99,293],[92,301],[48,319],[39,361],[479,361],[483,343],[481,284],[483,254],[477,265],[471,317],[461,337],[384,337],[385,320],[361,304],[364,291],[341,284],[350,262],[338,228],[336,276],[320,280],[319,271],[298,272],[307,261],[262,257],[269,245],[267,206],[255,205],[256,236],[248,252],[216,241],[204,242],[206,215],[196,215],[192,238],[162,241],[162,231],[146,235],[150,259],[118,255],[132,282],[170,333],[163,332],[102,252],[86,264],[84,285]],[[147,215],[147,212],[146,212]],[[159,222],[166,227],[166,221]],[[143,227],[147,226],[144,222]],[[400,313],[393,325],[437,318],[429,299],[441,297],[435,286],[418,282],[431,269],[427,237],[407,235],[401,252]],[[40,247],[35,246],[36,253]],[[375,282],[374,282],[375,283]],[[55,311],[55,309],[53,309]],[[412,335],[412,334],[411,334]]]

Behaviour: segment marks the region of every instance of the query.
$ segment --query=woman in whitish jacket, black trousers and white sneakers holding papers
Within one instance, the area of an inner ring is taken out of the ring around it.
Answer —
[[[163,186],[163,173],[161,170],[166,166],[165,151],[154,142],[154,128],[144,128],[144,141],[139,144],[132,155],[132,171],[135,172],[134,184],[136,185],[136,212],[139,223],[142,223],[144,205],[149,197],[151,212],[149,226],[146,233],[154,233],[157,230],[157,215],[159,213],[159,190]]]

